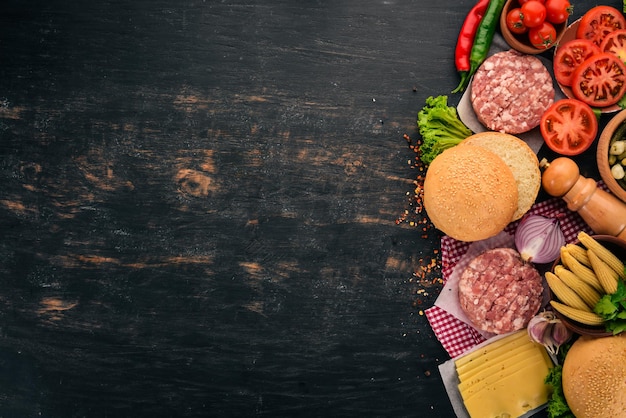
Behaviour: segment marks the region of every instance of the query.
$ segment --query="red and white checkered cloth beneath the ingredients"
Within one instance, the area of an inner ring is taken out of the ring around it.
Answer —
[[[604,183],[598,182],[598,186],[606,190]],[[579,231],[593,233],[580,215],[570,211],[565,201],[560,198],[537,203],[528,211],[528,214],[558,217],[568,243],[576,240]],[[519,222],[511,223],[505,231],[513,235]],[[454,266],[465,254],[470,244],[470,242],[457,241],[449,236],[441,239],[441,274],[444,282],[452,274]],[[485,341],[485,337],[477,330],[438,306],[433,306],[424,313],[435,336],[452,358]]]

